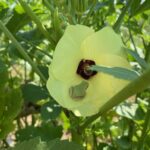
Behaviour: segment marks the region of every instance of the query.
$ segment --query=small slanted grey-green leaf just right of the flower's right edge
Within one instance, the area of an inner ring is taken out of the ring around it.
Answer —
[[[144,69],[148,68],[148,64],[146,61],[139,56],[139,54],[133,50],[126,49],[127,53],[129,53]]]

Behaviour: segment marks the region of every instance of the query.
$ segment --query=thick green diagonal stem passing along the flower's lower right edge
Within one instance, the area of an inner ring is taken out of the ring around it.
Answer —
[[[150,85],[150,69],[148,69],[142,76],[132,81],[126,87],[124,87],[119,93],[113,96],[94,116],[89,117],[81,126],[80,131],[83,131],[89,124],[99,118],[99,116],[112,109],[114,106],[120,104],[130,96],[143,91]]]

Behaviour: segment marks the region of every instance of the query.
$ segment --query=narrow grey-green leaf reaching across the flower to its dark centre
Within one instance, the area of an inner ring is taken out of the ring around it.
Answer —
[[[135,71],[120,67],[104,67],[94,65],[90,67],[90,70],[110,74],[116,78],[124,80],[134,80],[138,77],[138,74]]]

